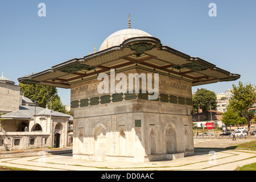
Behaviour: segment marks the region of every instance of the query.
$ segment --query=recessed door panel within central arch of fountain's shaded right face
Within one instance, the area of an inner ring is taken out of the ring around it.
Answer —
[[[166,152],[167,154],[175,154],[177,152],[176,147],[176,132],[174,128],[169,125],[166,128]]]

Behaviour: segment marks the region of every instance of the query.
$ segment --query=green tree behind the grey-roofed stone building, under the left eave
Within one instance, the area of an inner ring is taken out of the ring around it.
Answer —
[[[60,101],[60,97],[57,95],[57,88],[54,86],[45,85],[30,85],[19,83],[21,89],[23,90],[24,97],[29,98],[31,101],[35,102],[39,107],[48,107],[50,109],[50,101],[52,97],[52,110],[65,113],[65,106]],[[36,91],[36,92],[35,92]]]

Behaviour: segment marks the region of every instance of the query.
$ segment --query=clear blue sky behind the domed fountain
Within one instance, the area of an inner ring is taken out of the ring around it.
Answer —
[[[38,16],[45,3],[46,16]],[[210,3],[217,16],[210,17]],[[18,78],[96,50],[113,32],[131,28],[148,32],[187,55],[241,75],[232,82],[201,85],[225,92],[238,81],[256,84],[256,1],[13,1],[0,0],[0,73]],[[70,90],[58,89],[64,105]]]

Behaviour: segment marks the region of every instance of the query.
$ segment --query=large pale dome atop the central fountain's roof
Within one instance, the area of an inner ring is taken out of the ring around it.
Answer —
[[[104,42],[101,44],[101,47],[99,51],[102,51],[107,48],[113,47],[113,46],[119,46],[123,43],[126,39],[135,38],[139,36],[152,36],[148,34],[147,32],[144,32],[142,30],[134,29],[134,28],[127,28],[123,30],[119,30],[111,34],[108,38],[104,40]]]

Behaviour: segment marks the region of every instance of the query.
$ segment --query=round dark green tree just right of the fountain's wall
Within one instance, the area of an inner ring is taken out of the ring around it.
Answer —
[[[208,118],[208,110],[216,110],[217,108],[217,97],[216,94],[207,89],[197,89],[193,96],[193,110],[202,109],[205,112],[205,117]]]

